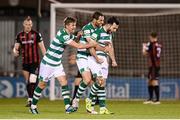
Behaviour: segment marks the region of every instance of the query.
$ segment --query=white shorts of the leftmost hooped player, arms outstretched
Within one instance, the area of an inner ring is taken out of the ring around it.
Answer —
[[[40,64],[39,80],[48,82],[52,77],[65,76],[63,65],[60,66],[49,66],[44,63]]]

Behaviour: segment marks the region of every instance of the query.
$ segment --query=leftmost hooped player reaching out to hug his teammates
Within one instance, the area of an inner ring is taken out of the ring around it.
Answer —
[[[74,109],[70,105],[70,92],[68,89],[66,74],[62,65],[62,54],[67,45],[70,45],[79,49],[86,49],[96,46],[96,42],[91,42],[88,44],[78,44],[73,39],[75,39],[73,33],[76,29],[76,20],[72,17],[66,17],[64,19],[64,28],[60,29],[56,37],[52,40],[45,56],[43,57],[40,64],[39,71],[39,84],[36,87],[33,95],[32,104],[30,111],[32,114],[38,114],[37,103],[41,96],[42,90],[46,87],[47,82],[55,77],[62,88],[62,96],[64,98],[65,112],[74,112]]]

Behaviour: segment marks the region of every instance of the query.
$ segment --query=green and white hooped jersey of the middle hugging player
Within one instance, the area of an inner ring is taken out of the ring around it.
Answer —
[[[91,37],[92,33],[96,30],[96,28],[94,28],[94,26],[92,25],[92,23],[88,23],[86,24],[83,28],[83,35],[80,38],[80,43],[82,44],[86,44],[86,38]],[[89,51],[87,49],[78,49],[77,52],[77,59],[83,58],[83,59],[87,59],[87,57],[90,55]]]

